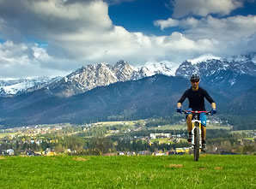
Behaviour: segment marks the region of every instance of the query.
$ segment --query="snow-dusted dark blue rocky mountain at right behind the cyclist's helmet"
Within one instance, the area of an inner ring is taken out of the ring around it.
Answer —
[[[256,53],[229,58],[199,57],[180,64],[175,75],[189,79],[192,73],[201,77],[201,85],[235,97],[256,83]]]

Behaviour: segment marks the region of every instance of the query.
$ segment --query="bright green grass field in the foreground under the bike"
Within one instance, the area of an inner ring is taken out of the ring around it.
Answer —
[[[256,188],[256,156],[0,157],[0,188]]]

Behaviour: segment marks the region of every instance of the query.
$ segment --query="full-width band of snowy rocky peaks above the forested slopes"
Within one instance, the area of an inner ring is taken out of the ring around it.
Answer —
[[[106,62],[83,66],[75,72],[50,80],[15,80],[4,82],[0,80],[0,97],[15,96],[46,88],[52,95],[70,97],[82,92],[88,92],[97,86],[108,86],[115,82],[140,80],[154,74],[181,76],[186,79],[192,73],[199,73],[203,84],[225,86],[227,89],[237,84],[239,80],[250,80],[256,76],[256,53],[230,56],[200,56],[176,64],[174,62],[146,62],[143,67],[135,68],[128,62],[120,60],[113,66]],[[254,80],[254,79],[253,79]]]

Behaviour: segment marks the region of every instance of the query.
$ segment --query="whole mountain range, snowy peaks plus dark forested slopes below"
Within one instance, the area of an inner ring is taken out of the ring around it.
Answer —
[[[180,66],[147,62],[141,68],[124,61],[113,66],[104,62],[88,65],[11,97],[0,97],[0,124],[14,127],[173,116],[177,100],[190,86],[189,76],[199,73],[200,85],[216,100],[219,116],[238,117],[239,121],[249,116],[247,127],[252,128],[256,115],[255,57],[255,53],[229,58],[201,56]]]

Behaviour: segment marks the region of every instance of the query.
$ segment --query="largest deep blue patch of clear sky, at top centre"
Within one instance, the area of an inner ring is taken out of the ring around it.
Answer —
[[[161,31],[153,21],[168,19],[171,9],[165,4],[166,0],[137,0],[115,4],[109,7],[109,16],[114,25],[125,27],[129,32],[163,35],[169,31]]]

